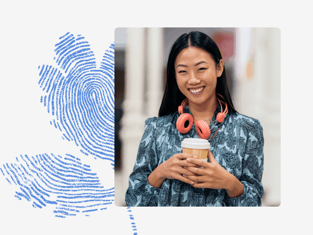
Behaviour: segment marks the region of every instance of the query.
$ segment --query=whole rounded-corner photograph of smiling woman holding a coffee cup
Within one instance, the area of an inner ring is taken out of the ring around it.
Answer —
[[[278,207],[279,28],[116,28],[115,206]]]

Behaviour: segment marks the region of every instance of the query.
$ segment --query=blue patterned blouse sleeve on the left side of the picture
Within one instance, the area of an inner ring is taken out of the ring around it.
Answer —
[[[158,164],[156,155],[156,118],[145,121],[145,131],[139,144],[134,170],[129,177],[125,201],[127,206],[157,206],[159,188],[149,184],[148,176]]]

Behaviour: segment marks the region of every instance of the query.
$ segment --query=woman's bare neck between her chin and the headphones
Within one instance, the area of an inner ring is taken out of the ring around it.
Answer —
[[[202,104],[196,104],[188,101],[188,106],[193,118],[197,120],[212,119],[215,110],[218,107],[218,102],[216,99],[216,94],[214,93],[212,97],[208,98]]]

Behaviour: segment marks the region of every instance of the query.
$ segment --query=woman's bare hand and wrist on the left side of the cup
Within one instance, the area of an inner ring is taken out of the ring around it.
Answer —
[[[160,188],[166,179],[177,179],[187,184],[193,185],[193,181],[188,180],[182,176],[182,174],[196,175],[193,172],[183,168],[183,166],[198,167],[198,165],[188,163],[186,160],[187,158],[193,157],[194,155],[188,153],[178,153],[173,155],[173,157],[169,158],[164,163],[159,164],[156,169],[148,176],[149,184],[155,188]]]

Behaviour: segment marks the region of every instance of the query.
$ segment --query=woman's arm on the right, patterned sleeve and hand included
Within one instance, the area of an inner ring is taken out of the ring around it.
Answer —
[[[263,130],[260,122],[256,122],[247,135],[246,148],[243,153],[243,169],[240,180],[226,171],[209,151],[210,163],[198,159],[187,159],[187,162],[198,164],[203,169],[186,167],[198,176],[183,175],[189,180],[197,181],[195,188],[225,189],[227,206],[261,206],[263,186]]]

